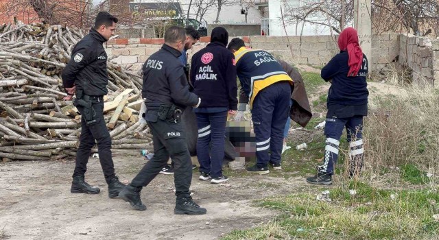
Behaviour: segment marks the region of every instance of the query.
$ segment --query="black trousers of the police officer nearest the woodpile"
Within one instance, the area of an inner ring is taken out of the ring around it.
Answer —
[[[111,157],[111,138],[108,128],[104,120],[104,101],[102,99],[92,99],[93,108],[95,110],[96,120],[89,125],[86,124],[84,117],[84,108],[77,106],[78,111],[81,113],[81,135],[80,135],[80,147],[76,153],[76,166],[73,172],[73,177],[84,175],[87,171],[88,158],[91,154],[91,148],[97,141],[99,161],[101,162],[102,170],[104,171],[105,180],[108,183],[109,180],[115,177],[115,166]]]

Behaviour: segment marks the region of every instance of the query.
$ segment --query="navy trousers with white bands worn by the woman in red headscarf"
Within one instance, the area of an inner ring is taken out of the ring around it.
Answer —
[[[324,147],[324,162],[319,166],[319,171],[333,174],[334,165],[337,163],[340,137],[343,128],[346,127],[347,139],[349,143],[349,171],[353,176],[354,171],[360,171],[363,165],[363,116],[356,115],[347,118],[327,118],[324,126],[324,134],[327,136],[326,146]]]

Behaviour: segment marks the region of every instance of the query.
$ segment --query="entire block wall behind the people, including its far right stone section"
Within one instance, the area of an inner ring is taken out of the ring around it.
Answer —
[[[188,51],[189,61],[209,40],[210,36],[202,37],[200,43]],[[323,66],[339,52],[337,39],[331,36],[247,36],[243,40],[255,49],[265,49],[294,64]],[[162,44],[163,38],[130,38],[110,40],[105,47],[112,62],[136,71]],[[410,34],[372,35],[372,56],[368,58],[370,71],[380,70],[390,62],[400,62],[413,70],[414,82],[439,87],[439,82],[435,84],[435,79],[439,81],[439,40]]]

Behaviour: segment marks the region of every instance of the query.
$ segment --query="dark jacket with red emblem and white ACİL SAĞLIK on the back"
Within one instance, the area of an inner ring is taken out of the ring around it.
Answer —
[[[233,53],[220,42],[209,43],[192,56],[191,84],[200,108],[237,110],[236,66]]]

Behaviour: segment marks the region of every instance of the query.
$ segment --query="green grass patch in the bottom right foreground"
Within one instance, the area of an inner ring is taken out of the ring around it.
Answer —
[[[317,201],[316,194],[259,201],[281,215],[223,239],[430,239],[439,233],[433,218],[439,212],[436,190],[385,190],[351,181],[331,189],[332,202]]]

